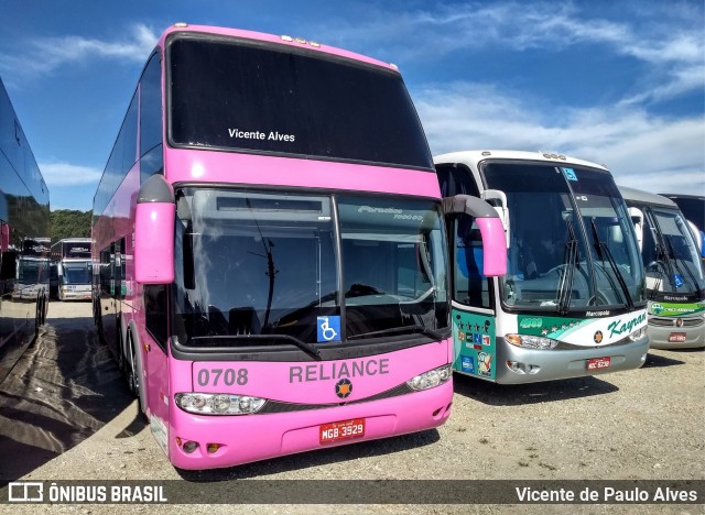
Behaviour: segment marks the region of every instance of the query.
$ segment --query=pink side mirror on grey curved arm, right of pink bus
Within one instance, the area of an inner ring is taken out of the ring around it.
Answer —
[[[501,276],[507,273],[507,239],[499,213],[485,200],[469,195],[456,195],[443,199],[447,215],[466,213],[475,219],[482,237],[482,275]]]

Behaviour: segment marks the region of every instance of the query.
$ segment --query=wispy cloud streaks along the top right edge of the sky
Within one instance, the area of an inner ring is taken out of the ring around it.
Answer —
[[[554,53],[592,45],[606,56],[648,64],[634,77],[640,92],[626,103],[660,101],[703,89],[705,39],[703,10],[687,3],[638,1],[620,6],[618,21],[593,3],[467,2],[434,6],[434,11],[366,10],[365,21],[328,23],[324,41],[366,42],[383,48],[394,63],[438,59],[485,50]]]

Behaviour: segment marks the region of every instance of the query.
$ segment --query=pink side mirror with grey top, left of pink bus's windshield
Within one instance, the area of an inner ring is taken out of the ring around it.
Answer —
[[[174,282],[174,191],[161,175],[140,187],[134,213],[134,280],[141,284]]]

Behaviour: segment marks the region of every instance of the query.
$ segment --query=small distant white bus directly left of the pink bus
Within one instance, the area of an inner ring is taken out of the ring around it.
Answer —
[[[52,245],[59,300],[90,300],[93,267],[90,238],[66,238]]]

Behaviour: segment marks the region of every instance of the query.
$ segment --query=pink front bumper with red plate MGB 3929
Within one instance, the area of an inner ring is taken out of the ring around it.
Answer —
[[[423,431],[447,420],[452,402],[452,380],[430,390],[369,403],[260,415],[193,415],[172,399],[169,457],[181,469],[215,469]],[[362,436],[321,441],[322,426],[354,419],[365,420]],[[187,441],[196,442],[197,448],[186,452]],[[218,445],[215,451],[213,443]]]

